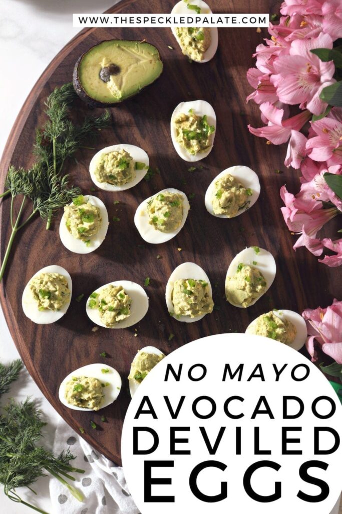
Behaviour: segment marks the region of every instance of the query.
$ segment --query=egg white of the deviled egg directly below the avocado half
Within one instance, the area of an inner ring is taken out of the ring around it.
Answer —
[[[132,157],[133,163],[135,166],[135,162],[144,162],[145,168],[143,170],[135,170],[135,178],[131,182],[127,182],[123,186],[114,186],[108,182],[99,182],[95,177],[95,169],[99,159],[103,154],[109,154],[110,152],[118,152],[119,150],[126,150]],[[99,189],[103,189],[104,191],[126,191],[126,189],[131,189],[136,186],[140,180],[143,180],[146,173],[148,172],[148,168],[150,166],[150,160],[142,148],[139,146],[135,146],[134,144],[113,144],[112,146],[106,146],[102,150],[99,150],[94,157],[91,159],[89,164],[89,173],[92,181],[95,186]]]

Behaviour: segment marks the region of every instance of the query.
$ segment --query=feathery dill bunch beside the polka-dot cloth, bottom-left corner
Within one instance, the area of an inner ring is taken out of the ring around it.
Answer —
[[[65,479],[74,481],[70,473],[84,473],[83,469],[70,466],[75,457],[67,450],[57,457],[38,442],[46,425],[35,402],[27,398],[23,402],[10,400],[0,414],[0,483],[10,500],[23,503],[37,512],[45,511],[22,500],[16,493],[17,487],[28,487],[47,472],[53,475],[79,501],[84,497],[81,491]],[[35,491],[33,491],[35,492]]]

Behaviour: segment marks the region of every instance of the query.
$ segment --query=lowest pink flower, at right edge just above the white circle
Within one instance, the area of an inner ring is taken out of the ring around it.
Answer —
[[[317,360],[314,343],[321,346],[323,352],[342,364],[342,302],[334,299],[332,305],[323,309],[306,309],[303,314],[308,327],[306,347],[311,360]]]

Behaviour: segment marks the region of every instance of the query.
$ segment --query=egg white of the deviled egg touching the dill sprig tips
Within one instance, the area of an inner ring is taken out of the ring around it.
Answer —
[[[103,201],[92,195],[84,195],[84,197],[90,204],[99,208],[102,222],[98,232],[89,237],[90,242],[87,246],[84,241],[76,239],[76,237],[70,234],[65,224],[67,219],[66,214],[63,214],[61,223],[59,224],[59,237],[61,237],[64,246],[74,253],[90,253],[96,250],[100,244],[104,242],[108,230],[108,212]],[[73,204],[71,203],[70,205]],[[81,207],[82,206],[80,206],[80,208]]]

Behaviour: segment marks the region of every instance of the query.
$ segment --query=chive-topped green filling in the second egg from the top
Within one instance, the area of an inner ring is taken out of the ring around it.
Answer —
[[[211,134],[215,132],[214,125],[209,125],[207,116],[197,116],[190,109],[188,114],[181,113],[175,120],[176,141],[189,154],[196,155],[204,152],[211,144]]]

